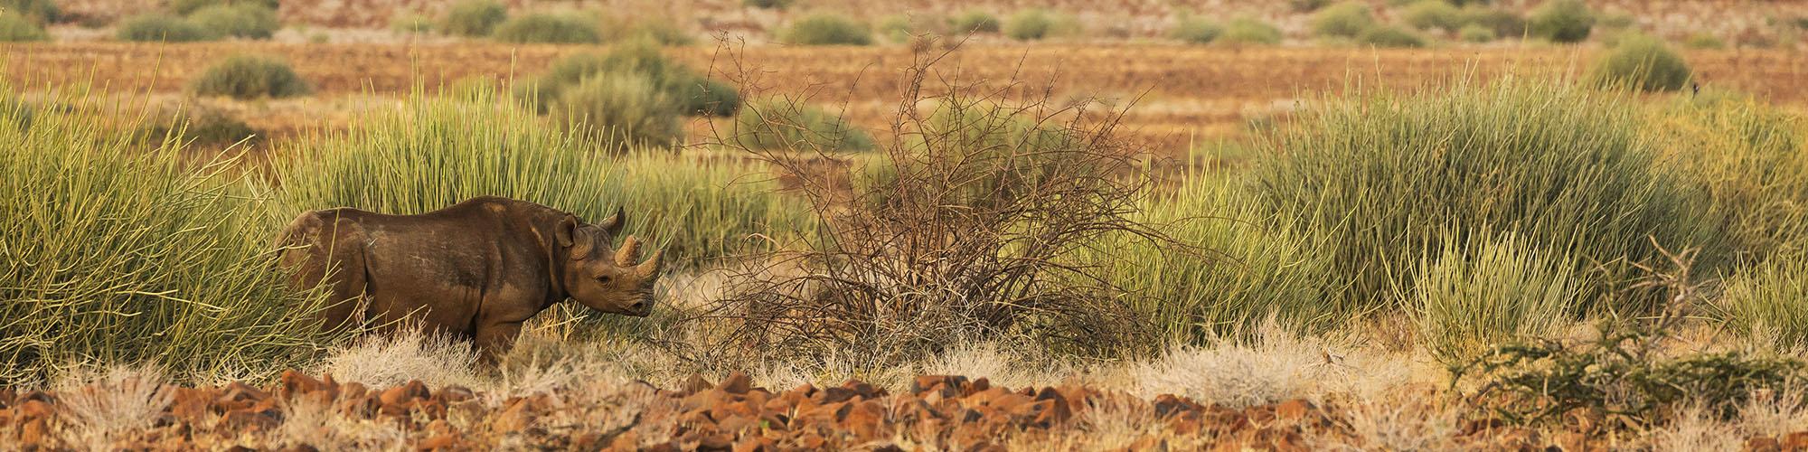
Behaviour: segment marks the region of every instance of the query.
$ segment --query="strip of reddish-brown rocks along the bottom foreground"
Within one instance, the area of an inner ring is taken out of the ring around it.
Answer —
[[[262,389],[101,381],[0,391],[0,448],[22,450],[1365,448],[1349,430],[1340,409],[1305,400],[1229,409],[962,376],[918,376],[900,394],[862,381],[768,391],[732,374],[720,383],[692,376],[669,391],[633,381],[501,396],[421,381],[372,389],[293,371]],[[1540,436],[1497,421],[1468,421],[1454,434],[1488,450],[1609,445],[1604,436]],[[1752,438],[1747,450],[1808,450],[1808,432]]]

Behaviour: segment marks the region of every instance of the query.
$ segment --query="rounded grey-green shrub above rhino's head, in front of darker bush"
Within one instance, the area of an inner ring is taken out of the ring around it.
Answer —
[[[553,119],[573,134],[626,148],[671,146],[683,137],[678,108],[640,72],[602,72],[559,94]]]

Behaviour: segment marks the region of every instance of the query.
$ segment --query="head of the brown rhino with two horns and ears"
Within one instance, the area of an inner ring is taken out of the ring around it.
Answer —
[[[579,222],[566,217],[557,228],[555,257],[566,262],[560,275],[566,295],[589,309],[647,316],[653,313],[653,284],[660,278],[664,251],[653,251],[645,262],[640,260],[640,239],[629,235],[622,248],[611,250],[615,237],[620,237],[622,210],[597,224]]]

